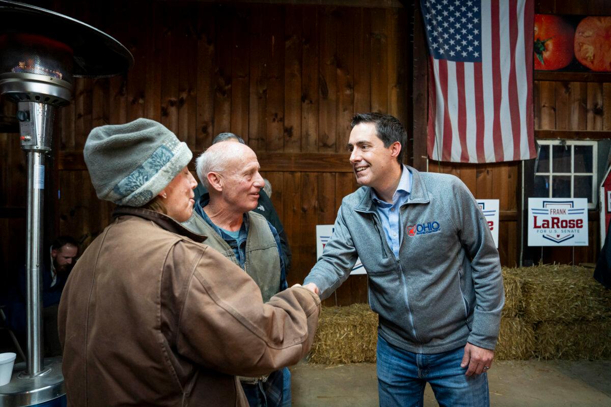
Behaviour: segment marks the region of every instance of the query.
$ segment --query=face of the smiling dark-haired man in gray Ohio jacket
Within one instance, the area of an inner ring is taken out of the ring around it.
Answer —
[[[374,123],[359,123],[350,132],[348,149],[351,151],[350,164],[356,182],[375,190],[384,185],[389,169],[397,158],[392,156],[392,145],[384,147],[384,142],[376,134]]]

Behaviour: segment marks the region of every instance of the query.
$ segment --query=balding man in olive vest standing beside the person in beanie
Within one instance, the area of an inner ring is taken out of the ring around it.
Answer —
[[[269,301],[287,281],[276,228],[253,212],[265,184],[255,152],[234,141],[215,143],[197,159],[197,176],[208,192],[196,200],[187,226],[243,268]],[[251,407],[290,405],[287,368],[240,381]]]

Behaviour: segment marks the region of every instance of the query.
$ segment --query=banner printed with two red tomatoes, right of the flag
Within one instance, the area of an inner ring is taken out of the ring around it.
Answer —
[[[611,16],[535,14],[535,70],[611,72]]]

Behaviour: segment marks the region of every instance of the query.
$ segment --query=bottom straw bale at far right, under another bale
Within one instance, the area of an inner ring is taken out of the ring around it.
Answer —
[[[541,359],[611,358],[611,321],[541,322],[535,328],[535,356]]]

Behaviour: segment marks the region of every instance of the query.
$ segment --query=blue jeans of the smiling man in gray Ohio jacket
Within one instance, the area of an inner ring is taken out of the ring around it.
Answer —
[[[430,383],[439,406],[487,407],[488,376],[465,376],[460,367],[464,347],[425,355],[390,345],[378,335],[378,394],[380,407],[422,407]]]

